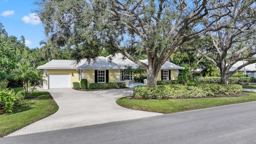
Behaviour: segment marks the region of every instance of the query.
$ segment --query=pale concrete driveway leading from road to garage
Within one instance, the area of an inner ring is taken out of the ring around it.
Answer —
[[[92,92],[77,91],[72,88],[44,91],[50,92],[57,102],[59,110],[51,116],[21,128],[8,136],[162,115],[160,113],[131,110],[118,106],[116,100],[132,95],[132,88]]]

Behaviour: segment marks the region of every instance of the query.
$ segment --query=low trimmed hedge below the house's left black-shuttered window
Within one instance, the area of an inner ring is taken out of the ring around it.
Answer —
[[[124,88],[124,82],[107,82],[107,83],[92,83],[89,85],[90,89],[100,89],[100,88]]]

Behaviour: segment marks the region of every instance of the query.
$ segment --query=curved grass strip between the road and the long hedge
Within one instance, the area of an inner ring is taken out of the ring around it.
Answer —
[[[214,106],[223,106],[228,104],[237,104],[242,102],[256,101],[256,93],[242,92],[248,96],[226,97],[226,98],[194,98],[194,99],[169,99],[169,100],[138,100],[129,98],[120,98],[116,103],[125,108],[143,110],[148,112],[158,112],[170,114],[187,110],[196,110],[201,108],[210,108]]]

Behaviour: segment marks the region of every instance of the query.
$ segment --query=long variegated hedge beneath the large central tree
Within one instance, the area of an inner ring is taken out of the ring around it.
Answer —
[[[198,86],[186,86],[182,84],[158,85],[157,87],[136,86],[134,95],[137,98],[185,98],[205,97],[218,94],[236,94],[242,91],[239,84],[201,84]]]

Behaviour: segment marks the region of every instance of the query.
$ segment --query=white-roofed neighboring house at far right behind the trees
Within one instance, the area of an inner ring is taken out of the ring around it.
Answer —
[[[246,61],[245,61],[246,62]],[[236,62],[230,69],[229,71],[234,71],[236,68],[238,68],[239,66],[241,66],[242,64],[244,64],[243,61],[239,61],[239,62]],[[245,71],[246,71],[246,74],[249,76],[249,77],[254,77],[256,78],[256,63],[254,64],[249,64],[247,66],[245,66]],[[238,72],[243,72],[244,74],[244,68],[241,68],[240,70],[238,70]]]

